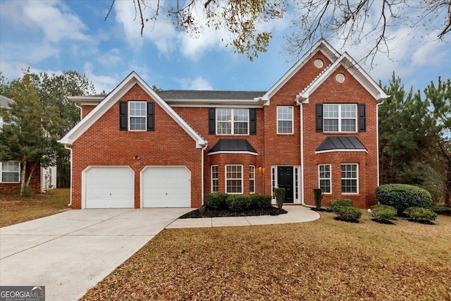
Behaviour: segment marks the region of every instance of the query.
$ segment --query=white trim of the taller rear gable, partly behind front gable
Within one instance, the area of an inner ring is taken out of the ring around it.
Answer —
[[[325,39],[320,39],[318,42],[316,42],[316,44],[314,44],[313,47],[311,47],[309,51],[307,51],[306,54],[304,54],[304,56],[302,56],[301,59],[299,59],[299,61],[297,61],[297,63],[295,63],[294,66],[290,68],[290,70],[287,71],[287,73],[285,73],[285,75],[283,75],[282,78],[280,78],[280,80],[278,80],[278,82],[276,82],[275,85],[273,85],[273,87],[271,87],[271,89],[268,90],[268,92],[264,94],[263,97],[261,97],[266,101],[266,105],[269,105],[269,99],[271,99],[271,97],[273,97],[273,95],[276,94],[276,92],[278,92],[278,90],[283,87],[283,85],[285,85],[285,83],[287,83],[288,80],[290,80],[290,78],[292,78],[292,76],[295,75],[297,71],[299,71],[299,69],[305,65],[305,63],[307,63],[307,61],[309,61],[311,56],[314,56],[314,54],[316,54],[316,52],[318,51],[321,51],[324,56],[326,56],[326,58],[328,58],[331,62],[340,57],[338,51],[336,51],[328,42],[326,42]]]

